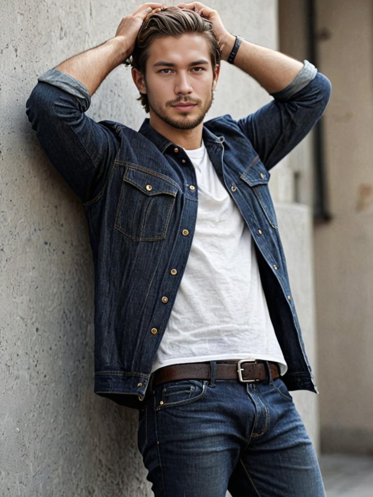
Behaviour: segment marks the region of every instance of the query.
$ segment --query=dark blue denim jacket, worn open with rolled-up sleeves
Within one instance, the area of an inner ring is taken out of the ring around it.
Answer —
[[[289,390],[317,392],[291,297],[268,188],[269,170],[310,131],[330,83],[305,61],[274,100],[247,117],[204,123],[218,176],[253,236]],[[145,119],[134,131],[85,115],[84,85],[56,69],[39,78],[27,115],[51,163],[86,208],[95,274],[96,394],[141,408],[150,370],[187,264],[198,205],[184,150]],[[167,297],[167,299],[162,299]],[[186,322],[186,326],[187,322]]]

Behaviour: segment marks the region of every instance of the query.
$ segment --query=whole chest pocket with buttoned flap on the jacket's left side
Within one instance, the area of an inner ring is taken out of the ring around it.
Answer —
[[[178,187],[153,171],[127,167],[122,181],[114,227],[134,240],[166,237]]]

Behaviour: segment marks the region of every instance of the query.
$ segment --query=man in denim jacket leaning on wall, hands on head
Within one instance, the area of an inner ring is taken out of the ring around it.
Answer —
[[[215,10],[179,7],[140,6],[114,38],[42,75],[27,103],[86,207],[95,392],[140,410],[156,496],[324,496],[288,392],[316,387],[268,171],[319,119],[330,84],[231,35]],[[203,124],[220,57],[274,100]],[[139,132],[84,114],[125,61],[150,113]]]

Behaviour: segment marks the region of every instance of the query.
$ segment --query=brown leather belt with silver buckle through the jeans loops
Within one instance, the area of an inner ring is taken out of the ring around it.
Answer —
[[[256,383],[268,378],[268,369],[276,379],[280,376],[277,363],[270,361],[216,361],[216,380],[239,380],[243,383]],[[209,362],[173,364],[157,369],[154,372],[153,385],[176,380],[210,380],[211,367]]]

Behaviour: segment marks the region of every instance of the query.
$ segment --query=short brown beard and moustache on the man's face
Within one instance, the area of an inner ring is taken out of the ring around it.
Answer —
[[[157,104],[157,102],[152,102],[151,94],[149,94],[148,91],[149,108],[152,109],[156,116],[162,119],[162,121],[176,129],[193,129],[198,126],[203,121],[204,116],[210,109],[213,99],[214,94],[211,88],[211,96],[208,100],[206,100],[205,104],[203,104],[202,100],[186,96],[178,98],[176,100],[169,100],[163,107],[162,105]],[[196,107],[198,108],[198,114],[194,117],[190,117],[189,112],[180,112],[178,117],[169,116],[167,113],[167,107],[171,107],[172,105],[176,105],[180,102],[190,102],[196,104]]]

